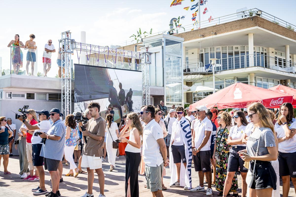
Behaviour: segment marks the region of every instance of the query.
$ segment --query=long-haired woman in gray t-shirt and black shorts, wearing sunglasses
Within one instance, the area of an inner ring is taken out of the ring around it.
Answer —
[[[254,181],[248,185],[250,196],[255,194],[258,197],[271,197],[272,189],[276,189],[277,179],[271,165],[271,161],[277,159],[274,125],[267,109],[261,103],[256,102],[250,105],[248,114],[256,128],[247,140],[247,149],[240,151],[239,154],[245,162],[250,162],[249,173],[255,174]]]

